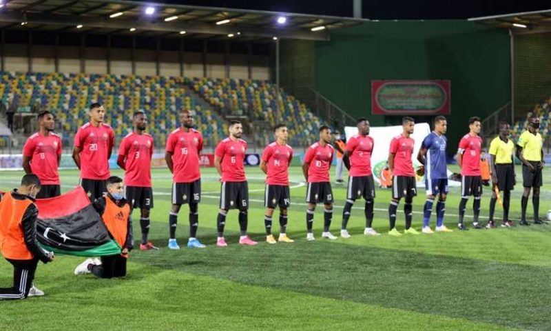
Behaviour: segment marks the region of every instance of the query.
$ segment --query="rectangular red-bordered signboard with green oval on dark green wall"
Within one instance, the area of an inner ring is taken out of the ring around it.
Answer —
[[[371,81],[371,114],[450,114],[450,81]]]

